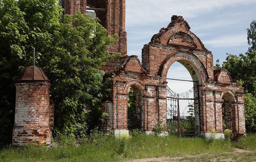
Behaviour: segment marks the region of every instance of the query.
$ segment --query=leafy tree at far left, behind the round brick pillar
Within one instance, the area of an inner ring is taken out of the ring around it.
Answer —
[[[15,110],[15,80],[24,67],[44,67],[58,30],[62,10],[56,0],[0,0],[0,145],[11,141]]]

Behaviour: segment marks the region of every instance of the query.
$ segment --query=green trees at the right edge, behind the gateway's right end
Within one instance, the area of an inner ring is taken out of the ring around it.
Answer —
[[[247,131],[256,132],[256,21],[253,20],[247,29],[248,52],[232,55],[227,53],[226,61],[222,67],[228,70],[232,79],[235,79],[245,88],[245,125]],[[217,59],[214,69],[220,68]],[[225,111],[225,110],[224,110]]]

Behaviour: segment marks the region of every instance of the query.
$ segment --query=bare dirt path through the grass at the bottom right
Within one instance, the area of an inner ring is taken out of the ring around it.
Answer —
[[[251,153],[251,151],[242,150],[239,148],[235,148],[234,152],[226,152],[226,153],[211,153],[211,154],[198,154],[198,155],[185,155],[179,157],[155,157],[155,158],[145,158],[145,159],[134,159],[128,160],[124,162],[180,162],[180,161],[239,161],[242,157],[242,154]],[[255,159],[252,155],[248,161]],[[242,160],[242,159],[241,159]],[[256,160],[256,159],[255,159]],[[243,161],[243,160],[242,160]]]

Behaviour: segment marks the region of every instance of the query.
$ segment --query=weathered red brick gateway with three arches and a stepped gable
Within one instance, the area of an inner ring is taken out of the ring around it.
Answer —
[[[137,84],[143,89],[145,133],[153,133],[156,123],[167,121],[167,72],[174,62],[183,64],[193,81],[198,82],[198,114],[200,135],[209,136],[210,129],[215,129],[217,138],[223,138],[222,98],[232,94],[232,109],[227,116],[232,120],[229,126],[238,135],[245,134],[244,90],[239,83],[231,79],[225,69],[213,68],[213,55],[201,40],[190,31],[189,24],[182,16],[173,16],[167,28],[162,28],[142,49],[142,63],[137,56],[120,58],[119,66],[106,71],[106,77],[112,77],[113,92],[109,101],[113,117],[105,124],[108,131],[115,134],[128,133],[127,85]],[[143,86],[142,86],[143,85]],[[228,92],[228,93],[227,93]],[[225,95],[226,94],[226,95]],[[107,109],[107,107],[105,107]],[[236,114],[234,114],[236,113]],[[123,123],[122,123],[123,122]],[[113,123],[113,124],[109,124]],[[238,124],[239,123],[239,124]],[[164,128],[167,132],[167,127]],[[235,135],[235,136],[236,136]]]

